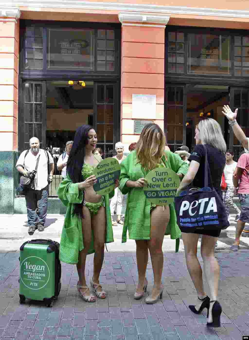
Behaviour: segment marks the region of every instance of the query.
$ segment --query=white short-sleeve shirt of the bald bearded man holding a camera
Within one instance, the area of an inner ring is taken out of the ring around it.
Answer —
[[[27,152],[27,150],[23,151],[20,154],[20,156],[19,156],[19,158],[16,162],[16,167],[18,165],[20,165],[24,168],[24,170],[27,170],[27,171],[35,170],[36,161],[37,161],[38,156],[40,155],[37,173],[35,175],[35,190],[41,190],[48,185],[48,157],[47,157],[47,154],[46,154],[45,150],[40,149],[38,154],[35,156],[31,152],[31,150],[29,150],[29,152],[26,155],[25,160],[24,160],[24,156],[25,156],[26,152]],[[48,155],[49,155],[49,164],[54,163],[53,157],[51,156],[51,154],[49,152],[48,152]]]

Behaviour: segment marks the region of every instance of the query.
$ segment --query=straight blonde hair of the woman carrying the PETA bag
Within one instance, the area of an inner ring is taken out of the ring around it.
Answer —
[[[212,118],[201,120],[196,128],[200,131],[199,138],[202,144],[212,145],[221,152],[226,152],[227,145],[223,137],[220,124]]]

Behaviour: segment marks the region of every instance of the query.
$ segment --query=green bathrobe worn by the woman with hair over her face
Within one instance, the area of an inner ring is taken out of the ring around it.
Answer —
[[[179,155],[165,151],[162,161],[166,168],[170,168],[176,173],[185,175],[188,171],[188,164],[183,162]],[[150,205],[146,199],[143,188],[129,188],[125,185],[128,180],[137,181],[145,177],[148,171],[144,171],[140,164],[137,164],[136,151],[132,151],[120,164],[120,185],[119,189],[123,194],[128,193],[127,205],[125,211],[124,227],[122,234],[122,242],[126,242],[127,229],[129,238],[133,240],[149,240],[150,239]],[[170,221],[168,222],[165,235],[170,235],[172,239],[176,239],[176,252],[179,250],[179,238],[181,231],[176,223],[176,212],[174,203],[169,204]]]

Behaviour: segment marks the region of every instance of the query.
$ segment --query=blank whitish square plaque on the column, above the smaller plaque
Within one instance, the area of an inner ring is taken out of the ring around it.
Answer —
[[[156,117],[156,95],[132,94],[132,118]]]

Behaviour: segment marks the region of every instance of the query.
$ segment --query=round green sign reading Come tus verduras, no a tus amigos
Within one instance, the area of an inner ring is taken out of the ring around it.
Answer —
[[[93,185],[94,191],[100,195],[110,193],[115,186],[115,181],[120,176],[120,165],[117,159],[108,157],[103,159],[94,169],[97,183]]]

